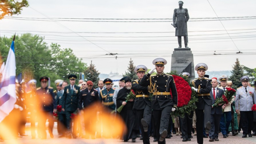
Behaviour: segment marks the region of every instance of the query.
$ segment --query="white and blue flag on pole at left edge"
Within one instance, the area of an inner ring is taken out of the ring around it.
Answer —
[[[13,110],[16,102],[15,92],[15,75],[16,62],[14,52],[14,40],[9,50],[4,70],[2,71],[2,79],[0,83],[0,122]]]

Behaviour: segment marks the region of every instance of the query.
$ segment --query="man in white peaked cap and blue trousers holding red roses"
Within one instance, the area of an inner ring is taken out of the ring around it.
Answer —
[[[226,75],[222,75],[218,78],[218,80],[221,82],[221,87],[219,88],[223,89],[224,93],[226,93],[228,77]],[[221,114],[220,128],[224,138],[228,137],[227,132],[231,123],[231,103],[233,103],[234,100],[235,96],[232,97],[232,100],[229,101],[228,104],[224,104],[222,106],[224,113]]]

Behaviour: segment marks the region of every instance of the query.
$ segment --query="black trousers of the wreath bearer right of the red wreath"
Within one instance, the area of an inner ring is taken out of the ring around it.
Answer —
[[[211,106],[204,104],[204,109],[196,109],[196,138],[197,143],[203,143],[203,129],[211,120]]]

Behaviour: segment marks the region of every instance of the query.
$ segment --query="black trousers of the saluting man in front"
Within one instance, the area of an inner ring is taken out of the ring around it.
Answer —
[[[153,110],[154,122],[156,123],[157,140],[160,138],[160,132],[168,129],[169,118],[171,114],[172,106],[166,106],[162,110]],[[158,144],[165,144],[165,140],[162,142],[157,141]]]

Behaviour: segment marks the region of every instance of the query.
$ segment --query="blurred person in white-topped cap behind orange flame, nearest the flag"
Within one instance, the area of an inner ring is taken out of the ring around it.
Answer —
[[[28,85],[31,91],[26,93],[26,110],[30,114],[30,123],[31,123],[31,136],[32,139],[35,139],[35,119],[36,119],[36,112],[38,110],[38,102],[36,97],[36,83],[35,79],[29,80]]]

